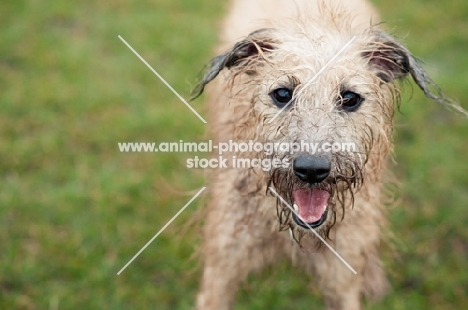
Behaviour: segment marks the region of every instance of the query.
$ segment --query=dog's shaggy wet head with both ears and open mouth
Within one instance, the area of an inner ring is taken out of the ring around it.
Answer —
[[[427,97],[452,105],[402,44],[373,28],[256,31],[212,60],[195,97],[220,72],[231,104],[239,96],[251,105],[246,122],[255,132],[242,138],[289,146],[259,156],[290,163],[269,171],[267,188],[295,209],[278,199],[282,227],[299,232],[326,234],[357,193],[370,195],[380,183],[392,149],[395,81],[412,77]]]

